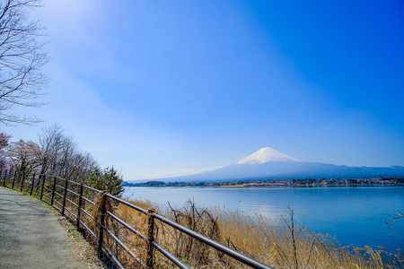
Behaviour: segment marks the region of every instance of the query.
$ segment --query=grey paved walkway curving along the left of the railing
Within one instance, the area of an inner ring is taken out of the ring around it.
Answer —
[[[88,268],[74,244],[44,204],[0,187],[0,268]]]

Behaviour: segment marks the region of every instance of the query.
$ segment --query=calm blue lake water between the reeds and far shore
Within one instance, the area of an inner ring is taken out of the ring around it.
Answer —
[[[404,218],[389,230],[386,213],[404,212],[404,187],[129,187],[124,197],[181,206],[225,206],[253,216],[286,216],[287,206],[315,232],[336,236],[342,245],[404,247]],[[390,233],[389,233],[390,232]]]

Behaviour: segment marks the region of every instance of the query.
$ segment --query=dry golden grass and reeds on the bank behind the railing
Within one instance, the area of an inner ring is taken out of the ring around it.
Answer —
[[[232,247],[260,262],[276,268],[402,268],[404,259],[371,247],[343,247],[328,235],[307,230],[296,219],[294,211],[279,220],[263,215],[246,216],[242,212],[222,208],[197,208],[189,201],[181,208],[157,205],[145,200],[131,200],[132,204],[169,217],[181,225],[196,230],[211,239]],[[121,205],[116,212],[138,230],[145,232],[145,218]],[[218,251],[189,238],[157,221],[156,240],[192,268],[244,268]],[[145,249],[140,239],[126,240],[131,248]],[[142,251],[138,254],[142,257]],[[136,267],[136,264],[131,264]],[[171,263],[156,256],[157,268],[171,268]]]

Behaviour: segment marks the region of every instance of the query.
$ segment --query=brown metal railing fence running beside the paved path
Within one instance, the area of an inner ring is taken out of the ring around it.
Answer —
[[[248,265],[252,268],[273,269],[195,230],[154,213],[153,209],[145,210],[72,180],[46,174],[2,171],[0,186],[25,192],[55,207],[59,213],[75,223],[77,230],[97,247],[99,256],[108,258],[114,267],[172,268],[172,265],[176,265],[179,268],[190,268],[190,265],[187,265],[189,260],[167,250],[167,246],[179,244],[177,239],[186,236],[189,237],[188,243],[196,240],[199,244],[211,247],[216,254],[220,253],[219,256],[228,256],[240,264],[234,266],[228,263],[220,267],[241,268]],[[175,237],[167,239],[170,235]],[[165,246],[158,243],[162,238]],[[185,251],[189,251],[189,246],[184,248]],[[206,256],[212,256],[212,252],[204,253]],[[162,257],[171,264],[164,262]]]

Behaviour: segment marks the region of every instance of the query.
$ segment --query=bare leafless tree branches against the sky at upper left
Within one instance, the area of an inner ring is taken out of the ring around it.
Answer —
[[[40,107],[35,99],[48,82],[41,68],[48,62],[42,51],[43,35],[39,22],[30,22],[27,9],[39,0],[0,0],[0,123],[31,125],[32,117],[13,115],[16,107]]]

